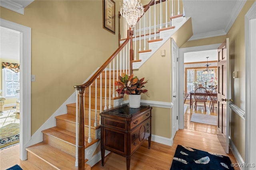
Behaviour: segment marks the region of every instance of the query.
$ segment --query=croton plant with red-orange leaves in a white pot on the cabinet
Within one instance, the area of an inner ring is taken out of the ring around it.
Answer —
[[[116,92],[129,95],[130,108],[139,108],[141,94],[145,93],[148,96],[148,90],[142,89],[147,82],[148,80],[144,81],[144,78],[139,79],[137,76],[134,77],[133,74],[122,73],[122,76],[119,76],[118,81],[115,82],[115,85],[118,86]]]

